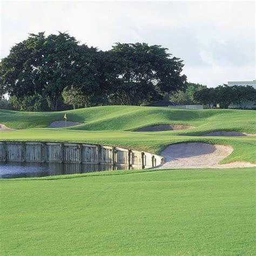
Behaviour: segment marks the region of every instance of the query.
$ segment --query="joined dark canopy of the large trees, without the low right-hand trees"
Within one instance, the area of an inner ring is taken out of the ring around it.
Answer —
[[[160,45],[117,43],[99,51],[66,32],[31,33],[3,58],[0,92],[17,100],[30,97],[26,102],[42,95],[51,110],[59,109],[65,87],[82,93],[87,105],[139,105],[182,89],[182,69],[183,61]]]

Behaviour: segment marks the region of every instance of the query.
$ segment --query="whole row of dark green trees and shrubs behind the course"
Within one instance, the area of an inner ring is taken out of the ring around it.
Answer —
[[[0,63],[0,108],[56,111],[98,105],[231,103],[255,100],[252,86],[188,83],[183,60],[146,43],[116,43],[109,51],[80,44],[66,32],[30,34]],[[9,100],[3,96],[8,94]]]

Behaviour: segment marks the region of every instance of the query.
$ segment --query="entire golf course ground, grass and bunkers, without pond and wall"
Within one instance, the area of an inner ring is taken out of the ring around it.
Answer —
[[[165,159],[155,169],[0,180],[1,255],[256,254],[255,111],[0,110],[0,124],[1,142],[100,144]]]

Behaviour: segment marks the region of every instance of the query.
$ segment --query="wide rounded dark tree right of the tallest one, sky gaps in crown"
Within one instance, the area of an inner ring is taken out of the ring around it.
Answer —
[[[184,87],[183,62],[160,45],[117,43],[107,52],[105,82],[123,105],[139,105]]]

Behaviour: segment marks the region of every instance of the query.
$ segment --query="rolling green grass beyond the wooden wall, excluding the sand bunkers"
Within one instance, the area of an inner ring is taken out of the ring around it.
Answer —
[[[53,120],[85,122],[65,129],[28,129],[45,127]],[[232,145],[233,153],[222,163],[235,160],[256,163],[256,137],[199,137],[214,130],[256,133],[256,111],[247,110],[173,110],[166,107],[103,106],[66,112],[34,113],[0,111],[0,123],[17,130],[0,133],[2,140],[48,140],[102,143],[160,153],[177,142],[207,142]],[[190,130],[166,132],[132,132],[153,124],[190,124]],[[198,136],[198,137],[197,137]]]

